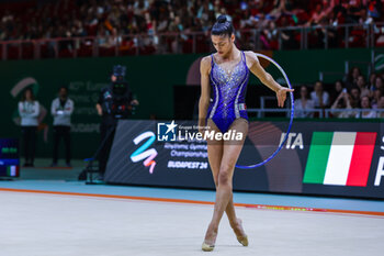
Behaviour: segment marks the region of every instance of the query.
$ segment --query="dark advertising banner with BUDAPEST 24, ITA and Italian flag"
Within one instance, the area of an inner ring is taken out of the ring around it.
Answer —
[[[214,188],[204,140],[193,121],[121,121],[105,180]],[[238,159],[253,165],[282,143],[286,122],[250,122]],[[374,122],[296,122],[280,153],[255,169],[235,168],[234,190],[384,198],[384,134]],[[169,130],[172,130],[170,132]]]

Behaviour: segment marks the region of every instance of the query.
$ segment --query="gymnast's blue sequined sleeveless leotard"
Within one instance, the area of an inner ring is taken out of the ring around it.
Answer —
[[[222,133],[228,131],[230,124],[239,118],[248,120],[245,97],[249,79],[246,56],[241,52],[241,60],[228,75],[217,65],[211,55],[210,82],[213,88],[213,101],[207,111],[207,119],[212,119]]]

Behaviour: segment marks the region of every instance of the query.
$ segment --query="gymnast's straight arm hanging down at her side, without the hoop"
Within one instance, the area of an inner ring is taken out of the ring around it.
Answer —
[[[211,57],[202,58],[200,63],[201,75],[201,96],[199,100],[199,126],[206,125],[205,119],[210,105],[211,88],[210,88],[210,71],[211,71]],[[202,132],[202,129],[199,129]]]

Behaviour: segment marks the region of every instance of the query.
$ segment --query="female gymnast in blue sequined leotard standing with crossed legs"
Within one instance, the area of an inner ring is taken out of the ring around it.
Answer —
[[[215,247],[221,219],[226,212],[237,241],[248,246],[241,220],[236,216],[233,201],[233,175],[248,133],[248,115],[245,104],[249,71],[273,90],[278,105],[284,107],[286,93],[293,91],[280,86],[260,65],[253,52],[239,51],[235,45],[235,31],[226,15],[219,15],[211,31],[215,54],[202,58],[201,97],[199,101],[199,130],[201,133],[242,133],[242,140],[207,140],[208,162],[216,187],[216,200],[211,223],[206,230],[202,249]],[[211,88],[213,100],[211,101]]]

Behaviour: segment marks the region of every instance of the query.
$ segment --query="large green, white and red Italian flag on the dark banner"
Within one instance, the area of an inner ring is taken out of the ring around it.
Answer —
[[[314,132],[304,183],[365,187],[376,133]]]

